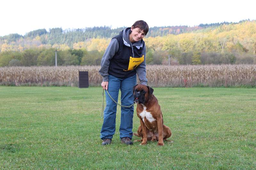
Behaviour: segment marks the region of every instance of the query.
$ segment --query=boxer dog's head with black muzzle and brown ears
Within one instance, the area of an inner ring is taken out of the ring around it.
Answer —
[[[154,89],[149,86],[137,84],[133,87],[134,103],[145,104],[151,99]]]

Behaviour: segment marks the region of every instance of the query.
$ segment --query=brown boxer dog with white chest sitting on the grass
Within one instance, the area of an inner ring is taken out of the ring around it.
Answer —
[[[163,114],[153,91],[151,87],[141,84],[133,88],[134,103],[137,103],[137,116],[140,118],[138,131],[133,135],[142,138],[134,142],[142,141],[140,145],[146,145],[148,140],[157,140],[157,145],[163,146],[163,140],[167,140],[172,132],[168,126],[164,125]]]

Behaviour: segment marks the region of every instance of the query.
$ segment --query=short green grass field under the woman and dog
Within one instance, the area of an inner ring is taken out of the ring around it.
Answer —
[[[101,93],[0,86],[0,168],[256,169],[255,88],[155,88],[174,141],[162,147],[121,144],[120,107],[113,144],[101,146]]]

